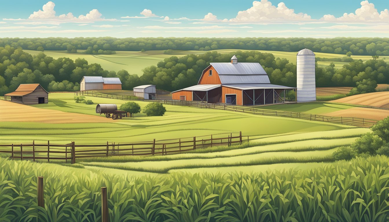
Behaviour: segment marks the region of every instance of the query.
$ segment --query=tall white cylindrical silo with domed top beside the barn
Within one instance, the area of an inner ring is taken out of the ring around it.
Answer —
[[[316,100],[315,53],[309,49],[297,53],[297,101]]]

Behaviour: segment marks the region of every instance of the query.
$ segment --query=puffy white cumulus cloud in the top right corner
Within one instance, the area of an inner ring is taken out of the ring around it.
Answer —
[[[338,18],[331,14],[327,14],[321,19],[328,22],[389,22],[389,10],[385,9],[378,12],[373,3],[369,3],[368,0],[365,0],[361,2],[361,7],[356,9],[355,13],[344,13],[343,16]]]

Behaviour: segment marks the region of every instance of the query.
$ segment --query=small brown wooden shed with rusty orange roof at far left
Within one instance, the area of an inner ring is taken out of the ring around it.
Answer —
[[[18,89],[4,95],[4,100],[21,104],[47,103],[49,93],[40,84],[20,84]]]

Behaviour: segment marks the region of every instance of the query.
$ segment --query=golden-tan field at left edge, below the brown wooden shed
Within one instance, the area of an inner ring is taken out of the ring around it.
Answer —
[[[41,109],[0,100],[0,122],[92,123],[112,122],[112,119],[59,110]]]

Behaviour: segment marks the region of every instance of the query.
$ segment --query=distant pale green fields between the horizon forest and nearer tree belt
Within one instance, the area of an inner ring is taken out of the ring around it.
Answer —
[[[32,55],[38,54],[40,51],[33,50],[24,50]],[[239,51],[237,49],[220,49],[214,50],[219,53],[230,53]],[[240,51],[251,51],[251,50],[240,50]],[[269,52],[274,54],[277,58],[286,58],[290,62],[296,64],[296,54],[297,52],[280,52],[280,51],[263,51],[256,50],[259,52]],[[81,51],[80,51],[81,52]],[[180,51],[174,50],[172,55],[163,54],[164,50],[155,50],[155,51],[116,51],[116,54],[112,55],[90,55],[90,54],[82,54],[82,53],[68,53],[67,51],[44,51],[47,56],[51,56],[54,59],[61,57],[68,57],[71,59],[76,58],[84,58],[89,63],[98,63],[106,70],[127,70],[131,74],[142,75],[142,70],[151,65],[157,65],[159,61],[162,61],[165,58],[170,56],[185,56],[187,54],[204,54],[207,51]],[[342,58],[343,54],[332,54],[332,53],[315,53],[317,57],[321,58]],[[371,56],[352,56],[354,59],[362,59],[366,61],[371,59]],[[380,59],[384,59],[386,62],[389,62],[389,56],[380,56]],[[331,62],[328,61],[318,61],[319,65],[326,66]],[[336,68],[342,68],[343,65],[347,64],[344,62],[333,62]]]

